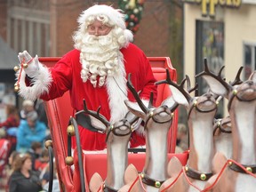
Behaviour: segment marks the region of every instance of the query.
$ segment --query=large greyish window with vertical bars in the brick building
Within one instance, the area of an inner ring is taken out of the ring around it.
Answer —
[[[16,52],[50,55],[49,1],[8,1],[7,42]]]

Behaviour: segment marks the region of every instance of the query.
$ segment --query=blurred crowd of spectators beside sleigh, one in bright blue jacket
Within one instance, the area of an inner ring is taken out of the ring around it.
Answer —
[[[6,115],[6,120],[0,123],[0,140],[7,140],[9,147],[3,172],[0,172],[0,189],[6,192],[47,191],[49,154],[44,141],[49,138],[49,129],[43,103],[24,100],[20,110],[7,105]],[[54,172],[53,192],[60,191],[57,177]]]

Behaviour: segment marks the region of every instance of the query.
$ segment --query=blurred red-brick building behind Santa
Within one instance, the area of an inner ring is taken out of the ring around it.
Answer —
[[[140,46],[148,57],[172,55],[172,65],[180,68],[181,76],[183,34],[180,1],[0,0],[0,36],[4,42],[1,49],[3,46],[12,50],[10,55],[7,54],[12,59],[4,61],[11,73],[8,84],[13,88],[13,67],[18,64],[19,52],[27,50],[32,56],[60,57],[73,49],[72,35],[77,28],[76,20],[82,11],[93,4],[123,8],[127,13],[127,28],[132,29],[135,35],[133,43]],[[0,76],[5,74],[2,69]],[[20,100],[16,100],[18,106]]]

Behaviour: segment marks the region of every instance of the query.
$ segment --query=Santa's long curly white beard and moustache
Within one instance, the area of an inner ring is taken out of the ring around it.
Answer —
[[[112,31],[107,36],[91,36],[86,34],[81,46],[80,62],[82,63],[81,78],[88,79],[94,87],[105,84],[107,76],[116,76],[120,73],[120,66],[124,66],[123,54]],[[124,74],[123,74],[124,75]]]

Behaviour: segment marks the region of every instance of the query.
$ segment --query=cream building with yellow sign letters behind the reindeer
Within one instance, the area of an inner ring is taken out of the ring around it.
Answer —
[[[184,0],[184,74],[195,81],[204,70],[204,58],[212,72],[234,81],[243,66],[246,80],[256,68],[256,0]],[[192,83],[193,84],[193,83]],[[198,79],[199,94],[207,91]],[[221,103],[219,116],[228,114],[227,100]]]

